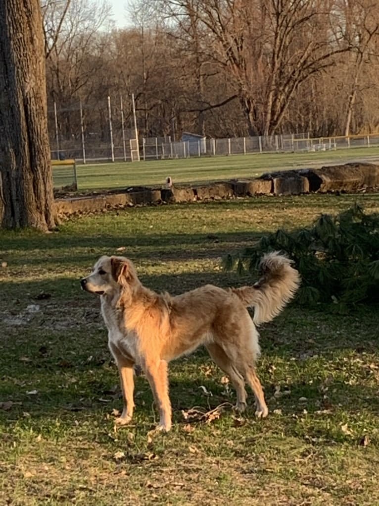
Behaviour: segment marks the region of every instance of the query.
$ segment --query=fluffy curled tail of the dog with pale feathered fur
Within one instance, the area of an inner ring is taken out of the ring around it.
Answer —
[[[254,323],[272,320],[294,297],[300,275],[292,261],[277,251],[263,256],[259,269],[262,277],[253,286],[233,288],[246,307],[254,308]]]

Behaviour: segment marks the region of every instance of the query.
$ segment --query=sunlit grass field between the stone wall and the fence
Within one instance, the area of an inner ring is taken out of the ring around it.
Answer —
[[[174,183],[252,178],[274,170],[320,167],[357,160],[377,161],[379,148],[340,149],[315,153],[274,153],[236,156],[115,162],[78,165],[79,191],[128,186],[163,185],[167,176]],[[70,185],[70,167],[54,168],[56,186]]]

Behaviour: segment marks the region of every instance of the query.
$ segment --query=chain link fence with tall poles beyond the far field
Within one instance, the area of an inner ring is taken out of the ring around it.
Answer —
[[[135,140],[132,109],[122,98],[93,104],[71,101],[49,107],[49,134],[53,160],[73,158],[78,163],[130,161],[248,153],[314,152],[379,146],[379,134],[310,138],[307,133],[228,139],[194,138],[172,141],[170,136]],[[188,138],[188,135],[185,136]],[[199,137],[199,136],[194,136]],[[136,156],[137,155],[137,156]]]

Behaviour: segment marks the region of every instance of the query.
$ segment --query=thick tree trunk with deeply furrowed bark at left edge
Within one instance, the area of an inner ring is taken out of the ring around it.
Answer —
[[[39,0],[0,2],[0,220],[54,227]]]

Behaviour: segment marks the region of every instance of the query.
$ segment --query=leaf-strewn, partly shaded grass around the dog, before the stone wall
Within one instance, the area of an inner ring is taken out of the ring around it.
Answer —
[[[99,300],[78,282],[125,248],[156,290],[241,285],[251,280],[224,273],[221,256],[356,200],[379,211],[373,194],[260,197],[129,208],[51,234],[0,231],[0,504],[379,504],[377,307],[339,316],[293,303],[263,325],[264,420],[252,395],[246,416],[233,413],[234,392],[203,350],[174,361],[173,429],[151,436],[144,376],[133,424],[114,428],[117,371]],[[208,423],[183,415],[220,404]]]

